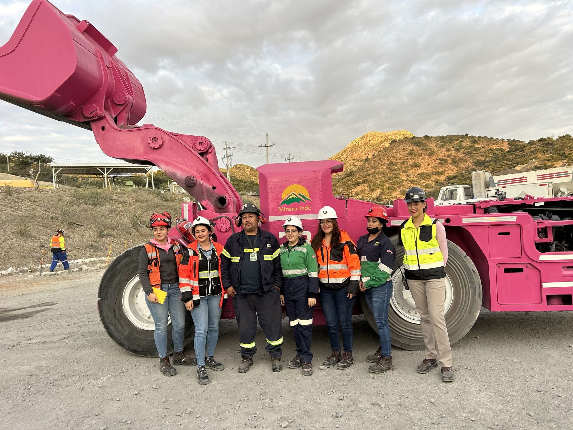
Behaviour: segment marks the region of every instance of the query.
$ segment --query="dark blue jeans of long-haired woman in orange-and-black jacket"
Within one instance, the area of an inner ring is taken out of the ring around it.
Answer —
[[[347,297],[348,287],[342,290],[331,291],[320,288],[320,306],[326,318],[330,347],[333,351],[340,351],[340,330],[342,330],[342,343],[345,352],[352,351],[352,308],[356,303],[356,296]],[[340,325],[340,330],[338,326]]]

